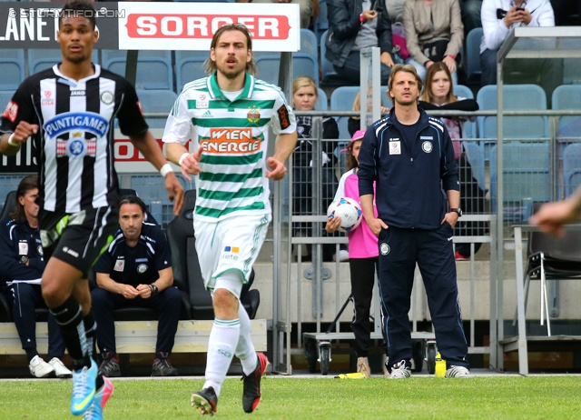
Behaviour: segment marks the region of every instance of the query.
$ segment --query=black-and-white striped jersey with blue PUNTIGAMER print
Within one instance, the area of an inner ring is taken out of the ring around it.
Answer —
[[[31,75],[18,87],[2,115],[0,132],[20,121],[37,124],[39,205],[46,211],[77,213],[113,204],[118,182],[113,167],[113,120],[123,135],[143,135],[147,124],[133,85],[94,65],[94,75],[75,81],[58,65]]]

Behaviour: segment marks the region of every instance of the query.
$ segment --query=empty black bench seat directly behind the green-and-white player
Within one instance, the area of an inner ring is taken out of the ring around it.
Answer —
[[[180,290],[187,291],[191,302],[192,319],[213,319],[212,296],[203,285],[202,272],[198,262],[193,234],[192,214],[195,207],[196,191],[188,190],[183,197],[183,207],[167,225],[167,238],[172,251],[173,281]],[[249,283],[242,287],[241,303],[251,319],[261,303],[260,292],[249,290],[254,280],[252,270]]]

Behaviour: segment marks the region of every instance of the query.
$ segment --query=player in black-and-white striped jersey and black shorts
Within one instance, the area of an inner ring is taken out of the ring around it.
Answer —
[[[18,87],[0,125],[0,153],[15,155],[29,136],[39,165],[39,223],[48,259],[44,301],[73,358],[71,412],[102,418],[113,392],[97,375],[95,322],[87,272],[118,226],[119,185],[113,167],[113,118],[165,177],[176,215],[183,188],[148,131],[134,87],[91,63],[99,38],[93,3],[70,0],[59,15],[62,62]]]

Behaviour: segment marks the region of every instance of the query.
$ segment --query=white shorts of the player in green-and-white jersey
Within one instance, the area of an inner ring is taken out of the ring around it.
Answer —
[[[243,283],[248,283],[269,223],[271,215],[237,215],[217,223],[196,220],[194,215],[196,252],[206,289],[212,292],[216,278],[228,270],[240,271]]]

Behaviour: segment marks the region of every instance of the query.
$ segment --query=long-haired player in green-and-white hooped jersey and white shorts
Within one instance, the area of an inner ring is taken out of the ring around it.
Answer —
[[[252,264],[271,221],[269,179],[281,180],[297,141],[295,116],[281,90],[252,75],[251,35],[243,25],[222,26],[212,38],[208,77],[183,86],[163,134],[168,158],[195,175],[193,228],[214,323],[208,344],[206,382],[192,395],[202,415],[216,411],[233,355],[241,360],[242,406],[261,401],[268,360],[251,343],[250,318],[240,303]],[[277,135],[267,155],[268,130]],[[192,140],[194,153],[186,143]]]

